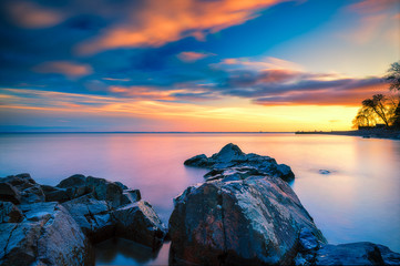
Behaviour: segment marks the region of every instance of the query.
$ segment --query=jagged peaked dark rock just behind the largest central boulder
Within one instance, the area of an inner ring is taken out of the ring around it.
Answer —
[[[184,162],[185,165],[222,170],[230,167],[254,167],[265,175],[280,177],[290,181],[295,177],[291,168],[286,164],[278,164],[275,158],[258,154],[246,154],[235,144],[225,145],[218,153],[207,157],[204,154],[196,155]]]

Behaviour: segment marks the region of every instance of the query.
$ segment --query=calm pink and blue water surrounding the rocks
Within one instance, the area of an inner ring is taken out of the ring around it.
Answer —
[[[55,185],[81,173],[140,188],[167,224],[172,198],[203,181],[183,162],[233,142],[246,153],[291,166],[291,184],[332,244],[369,241],[400,252],[400,141],[295,134],[17,134],[0,135],[0,176],[28,172]],[[319,170],[328,170],[321,175]],[[98,246],[98,264],[165,264],[126,241]]]

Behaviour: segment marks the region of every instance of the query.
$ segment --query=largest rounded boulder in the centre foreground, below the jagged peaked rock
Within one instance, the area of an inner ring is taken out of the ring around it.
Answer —
[[[305,228],[326,242],[288,184],[270,176],[208,181],[174,204],[172,264],[291,264]]]

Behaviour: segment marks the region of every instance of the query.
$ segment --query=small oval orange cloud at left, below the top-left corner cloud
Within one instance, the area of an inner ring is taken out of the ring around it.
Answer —
[[[39,73],[59,73],[69,78],[79,78],[92,73],[92,68],[88,64],[78,64],[69,61],[44,62],[33,68]]]

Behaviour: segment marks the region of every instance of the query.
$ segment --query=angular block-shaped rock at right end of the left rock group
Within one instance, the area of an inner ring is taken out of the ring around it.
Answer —
[[[156,249],[166,235],[166,228],[147,202],[139,201],[113,212],[116,236]]]

